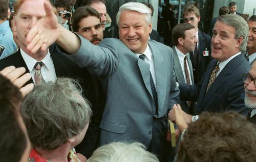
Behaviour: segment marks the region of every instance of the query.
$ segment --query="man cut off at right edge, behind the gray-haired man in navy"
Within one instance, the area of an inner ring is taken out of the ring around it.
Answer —
[[[252,15],[248,19],[247,24],[249,26],[249,33],[245,58],[252,65],[256,60],[256,15]]]

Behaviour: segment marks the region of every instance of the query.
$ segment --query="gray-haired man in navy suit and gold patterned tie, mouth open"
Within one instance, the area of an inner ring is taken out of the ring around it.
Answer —
[[[243,17],[236,14],[217,18],[211,39],[212,60],[201,84],[179,84],[180,99],[198,101],[196,114],[203,111],[237,111],[247,115],[249,109],[244,104],[243,73],[248,72],[249,63],[241,52],[246,51],[248,25]],[[186,122],[194,122],[198,115],[186,114]],[[169,118],[174,120],[173,110]]]

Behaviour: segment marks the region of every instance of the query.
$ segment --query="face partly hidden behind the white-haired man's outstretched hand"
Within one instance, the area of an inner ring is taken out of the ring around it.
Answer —
[[[26,1],[19,7],[14,17],[14,31],[21,47],[26,52],[26,37],[32,26],[43,16],[46,15],[44,2],[46,0]]]

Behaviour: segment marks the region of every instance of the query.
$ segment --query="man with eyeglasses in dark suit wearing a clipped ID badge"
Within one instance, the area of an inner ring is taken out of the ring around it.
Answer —
[[[197,30],[198,43],[194,52],[190,52],[190,59],[193,65],[195,83],[200,83],[203,74],[211,61],[211,40],[210,36],[198,29],[200,12],[194,5],[186,5],[183,9],[183,20],[187,24],[194,25]]]

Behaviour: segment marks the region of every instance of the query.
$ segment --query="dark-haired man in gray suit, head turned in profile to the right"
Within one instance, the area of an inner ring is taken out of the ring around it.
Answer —
[[[174,51],[174,72],[176,82],[194,84],[193,66],[190,60],[189,52],[195,50],[198,42],[196,29],[190,24],[179,24],[174,27],[173,35],[173,51]],[[194,114],[194,102],[180,101],[180,105],[186,113]]]

